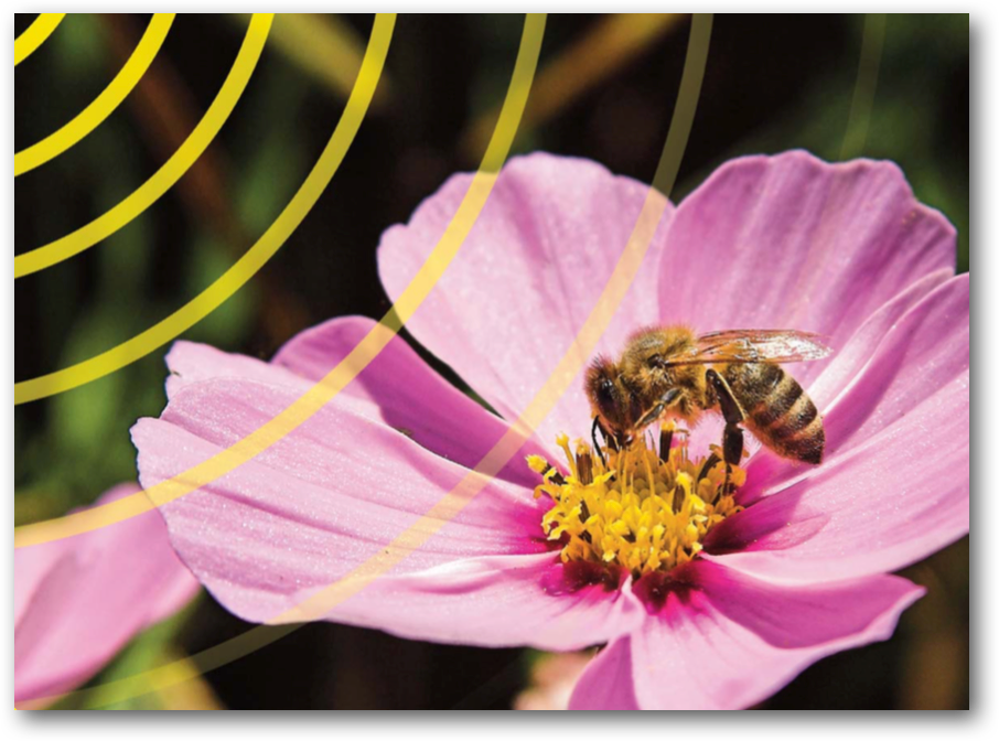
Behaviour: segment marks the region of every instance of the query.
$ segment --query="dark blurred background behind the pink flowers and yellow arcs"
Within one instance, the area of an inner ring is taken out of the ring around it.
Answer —
[[[234,15],[179,15],[126,104],[77,147],[15,180],[14,255],[92,221],[169,158],[235,58],[246,20]],[[347,93],[316,69],[329,68],[330,60],[356,64],[373,14],[290,15],[298,18],[279,15],[247,94],[216,142],[170,194],[85,255],[14,282],[15,383],[104,352],[169,315],[222,275],[291,198]],[[602,44],[602,31],[620,20],[611,15],[550,15],[538,84],[546,69],[573,55],[598,54],[608,64],[599,76],[570,65],[552,88],[551,109],[528,115],[516,150],[588,157],[648,182],[673,114],[689,19],[645,14],[631,36]],[[806,148],[828,160],[892,159],[920,198],[957,225],[960,269],[968,270],[969,14],[887,15],[718,14],[675,196],[743,153]],[[14,35],[33,18],[14,13]],[[54,131],[99,94],[148,20],[71,14],[15,69],[14,150]],[[303,22],[309,35],[294,36]],[[659,31],[642,33],[643,23]],[[518,13],[400,14],[376,105],[320,204],[249,286],[185,336],[269,357],[296,332],[330,316],[384,314],[389,304],[375,266],[379,235],[406,221],[448,175],[475,169],[482,154],[475,131],[502,103],[522,28]],[[866,28],[874,42],[862,54]],[[879,56],[874,77],[869,73]],[[858,79],[861,99],[877,79],[877,97],[869,126],[861,117],[851,127]],[[128,429],[163,407],[164,352],[57,398],[15,407],[15,526],[58,516],[135,479]],[[892,642],[824,662],[766,707],[968,709],[968,570],[967,540],[913,569],[906,576],[930,587],[931,597],[905,615]],[[140,638],[104,679],[194,654],[246,629],[204,599]],[[129,707],[502,710],[523,689],[535,658],[310,626],[208,675],[184,699],[168,694]]]

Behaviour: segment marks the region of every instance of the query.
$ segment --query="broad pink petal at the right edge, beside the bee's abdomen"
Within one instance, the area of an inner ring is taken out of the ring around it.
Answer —
[[[896,571],[969,534],[969,287],[968,276],[948,282],[885,337],[827,418],[830,461],[712,533],[716,552],[745,551],[726,563],[841,580]]]

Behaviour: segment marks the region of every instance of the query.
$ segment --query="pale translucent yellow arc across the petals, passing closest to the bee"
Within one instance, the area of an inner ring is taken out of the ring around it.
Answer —
[[[659,221],[666,212],[666,198],[656,191],[662,191],[662,193],[668,195],[676,182],[700,99],[703,73],[710,50],[712,25],[713,13],[694,13],[694,25],[690,31],[690,44],[687,51],[679,99],[677,100],[669,136],[663,150],[663,157],[659,160],[656,176],[653,181],[653,187],[649,189],[645,206],[635,224],[626,249],[615,266],[600,301],[578,335],[578,340],[583,343],[581,345],[582,352],[580,352],[580,348],[570,348],[559,367],[549,377],[545,387],[534,398],[520,419],[517,420],[517,423],[490,451],[475,470],[469,472],[468,476],[441,500],[427,516],[407,529],[385,552],[368,560],[354,572],[311,598],[298,609],[279,616],[275,622],[322,618],[329,613],[330,609],[356,595],[370,584],[375,578],[405,560],[409,554],[436,535],[447,522],[453,519],[483,490],[488,481],[506,466],[509,460],[522,449],[527,437],[533,434],[537,425],[554,409],[557,400],[567,390],[568,384],[572,383],[572,379],[576,378],[578,372],[582,368],[582,364],[586,362],[586,351],[592,352],[595,348],[600,336],[606,331],[617,307],[627,296],[627,291],[638,275],[645,255],[652,246],[652,239]],[[526,39],[527,30],[525,29],[525,41]],[[537,60],[535,60],[536,62]],[[498,133],[500,128],[497,127],[496,135],[498,136]],[[480,174],[482,174],[481,171]],[[444,238],[447,238],[447,235]],[[382,331],[385,334],[395,335],[391,330],[383,327]],[[187,659],[184,666],[169,665],[159,667],[128,679],[103,685],[99,688],[101,697],[107,698],[108,705],[116,705],[181,681],[194,679],[207,672],[248,656],[255,651],[293,633],[298,627],[297,625],[282,625],[280,627],[261,626],[254,629]],[[92,691],[94,690],[80,690],[73,692],[69,697],[76,699],[85,698]]]

